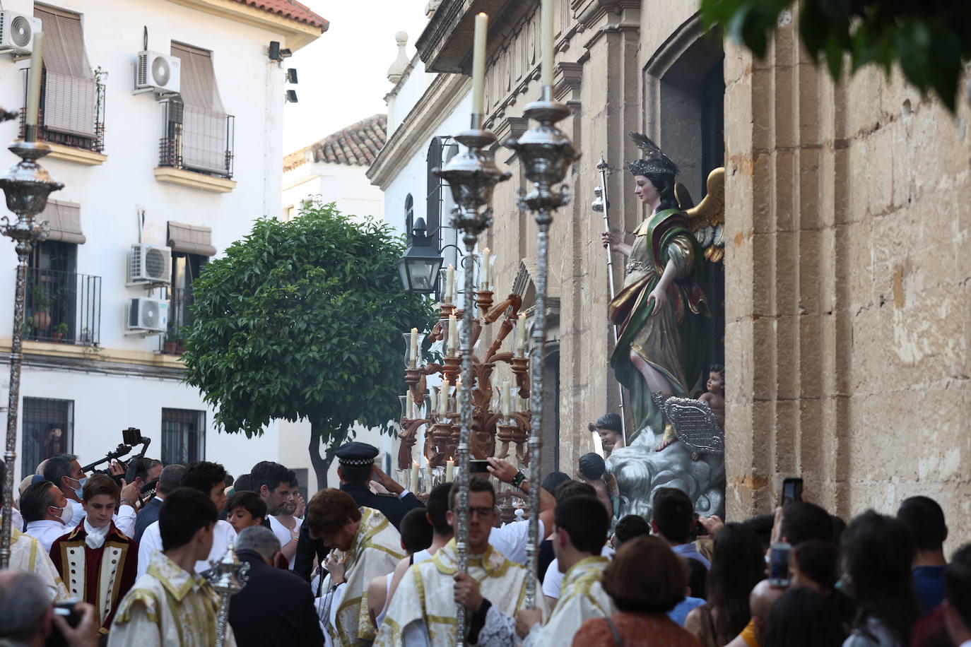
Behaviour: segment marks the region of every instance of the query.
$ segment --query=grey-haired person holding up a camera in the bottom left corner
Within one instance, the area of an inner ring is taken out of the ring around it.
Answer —
[[[40,577],[22,570],[0,571],[0,643],[43,647],[56,628],[68,647],[96,647],[94,607],[77,602],[72,610],[80,615],[74,627],[55,613]]]

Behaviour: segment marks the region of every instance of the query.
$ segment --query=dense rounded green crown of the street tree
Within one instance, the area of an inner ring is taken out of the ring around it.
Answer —
[[[218,427],[252,437],[271,419],[307,418],[324,444],[354,421],[389,433],[402,334],[434,320],[429,300],[401,287],[403,253],[387,225],[317,199],[290,222],[258,220],[210,262],[193,284],[183,360]]]

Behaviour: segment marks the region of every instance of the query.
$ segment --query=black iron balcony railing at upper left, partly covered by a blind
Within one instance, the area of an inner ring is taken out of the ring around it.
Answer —
[[[24,106],[27,103],[26,87],[27,75],[29,70],[23,71],[24,83]],[[93,96],[88,92],[79,91],[76,95],[66,93],[66,96],[58,94],[58,99],[62,104],[58,107],[58,113],[71,113],[71,119],[65,123],[48,123],[46,118],[49,113],[47,106],[47,71],[41,76],[41,104],[37,114],[37,139],[41,142],[48,142],[59,146],[69,146],[72,148],[82,148],[93,152],[102,152],[105,148],[105,86],[103,83],[94,81]],[[88,88],[90,86],[88,85]],[[88,106],[88,102],[93,102],[93,106]],[[93,113],[91,112],[93,108]],[[72,110],[75,109],[75,110]],[[25,121],[27,109],[20,109],[20,133],[22,139],[25,135]],[[91,119],[88,122],[88,119]],[[75,120],[76,123],[70,123]],[[84,133],[84,134],[82,134]]]

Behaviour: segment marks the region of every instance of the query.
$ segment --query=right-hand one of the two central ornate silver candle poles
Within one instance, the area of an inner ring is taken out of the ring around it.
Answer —
[[[526,106],[526,117],[539,121],[509,147],[519,153],[525,176],[534,189],[519,200],[519,208],[531,210],[539,226],[536,244],[536,306],[533,312],[533,345],[530,349],[529,406],[532,410],[529,433],[529,528],[526,540],[527,609],[536,608],[536,550],[539,542],[540,482],[542,480],[540,450],[543,447],[543,373],[546,361],[546,298],[549,275],[549,232],[554,210],[566,205],[570,196],[561,188],[553,191],[553,184],[566,176],[566,171],[579,154],[561,130],[554,125],[570,114],[570,109],[553,101],[552,85],[543,85],[543,97]]]

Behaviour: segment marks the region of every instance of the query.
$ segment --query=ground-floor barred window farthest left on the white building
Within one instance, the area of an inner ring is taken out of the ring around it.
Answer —
[[[24,397],[22,424],[21,475],[34,473],[52,456],[74,451],[73,400]]]

